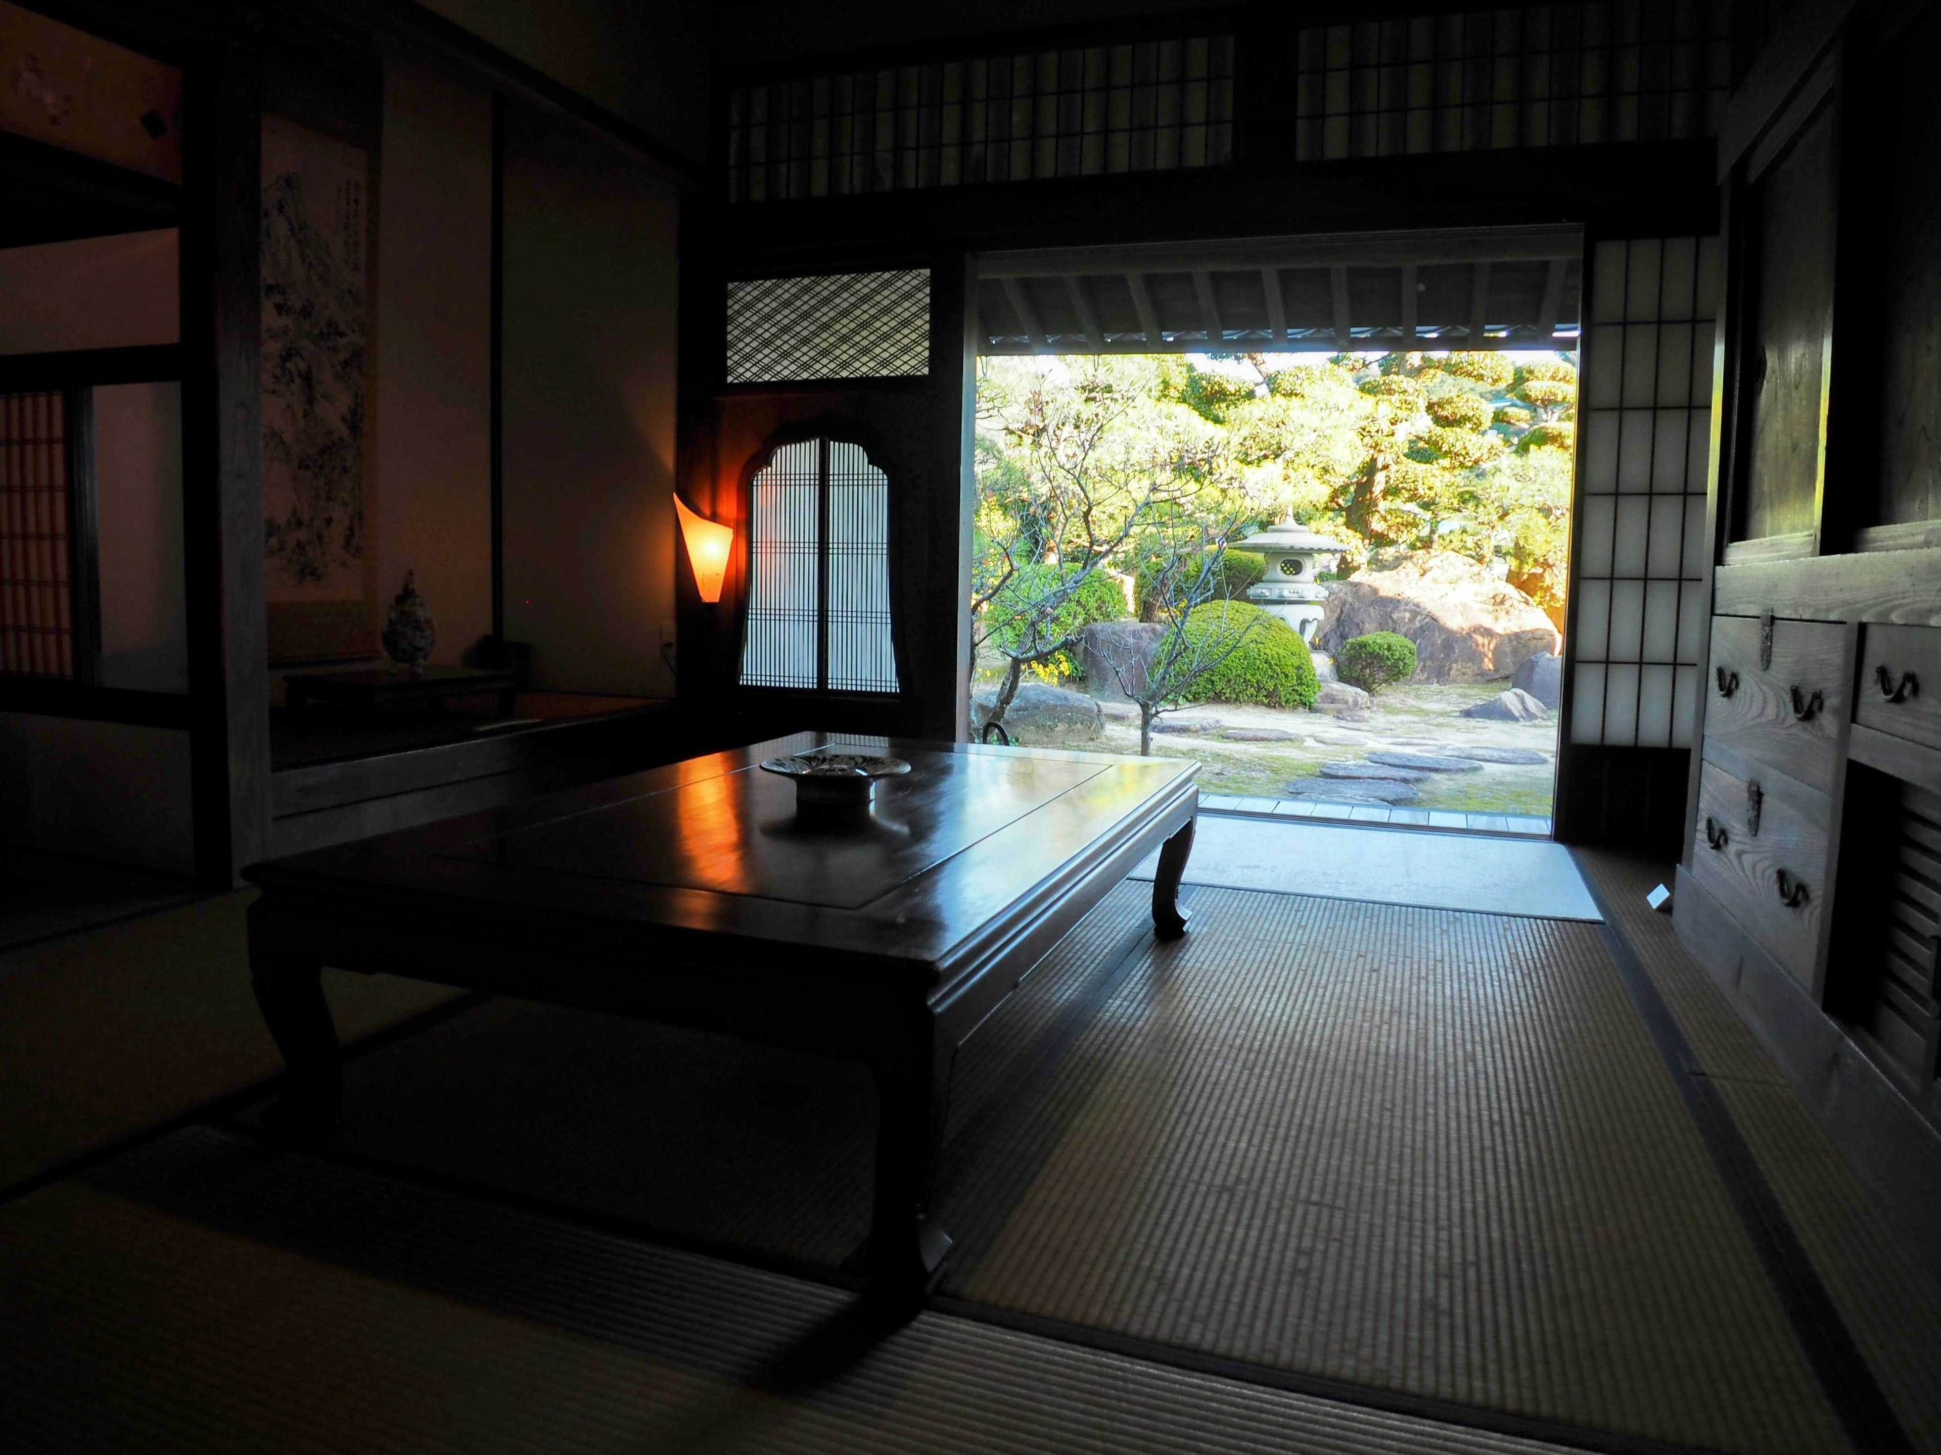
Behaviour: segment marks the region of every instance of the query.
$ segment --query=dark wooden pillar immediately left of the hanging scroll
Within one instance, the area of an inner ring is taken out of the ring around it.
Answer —
[[[196,873],[233,885],[270,850],[262,547],[262,47],[231,23],[186,70],[182,543]],[[217,29],[212,25],[212,31]]]

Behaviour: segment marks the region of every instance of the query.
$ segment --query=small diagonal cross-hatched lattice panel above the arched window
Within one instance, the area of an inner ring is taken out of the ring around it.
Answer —
[[[728,382],[930,372],[930,270],[728,285]]]

